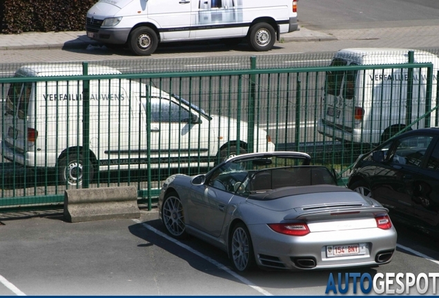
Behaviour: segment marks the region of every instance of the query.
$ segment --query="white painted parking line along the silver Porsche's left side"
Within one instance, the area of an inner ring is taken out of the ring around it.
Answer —
[[[133,219],[133,221],[137,222],[138,224],[142,224],[142,226],[144,226],[145,228],[147,228],[148,230],[155,232],[155,234],[162,236],[164,238],[166,238],[169,241],[172,241],[174,244],[177,244],[177,246],[180,246],[186,250],[188,250],[189,252],[192,252],[194,255],[197,255],[198,257],[202,257],[203,259],[205,259],[206,261],[208,261],[209,263],[217,266],[219,269],[226,271],[229,275],[232,275],[233,277],[235,277],[236,279],[239,279],[240,281],[242,281],[242,283],[246,284],[247,286],[257,290],[257,292],[260,292],[262,295],[265,296],[273,296],[273,294],[271,294],[270,292],[267,292],[266,290],[264,290],[263,288],[260,288],[258,286],[256,286],[255,284],[253,284],[251,281],[249,281],[248,279],[242,277],[241,275],[238,275],[236,272],[233,272],[232,270],[230,270],[229,268],[227,268],[226,266],[224,266],[223,264],[215,261],[214,259],[212,259],[211,257],[208,257],[204,254],[202,254],[201,252],[186,246],[186,244],[182,244],[180,241],[178,241],[177,239],[174,239],[166,234],[164,234],[163,232],[160,232],[159,230],[157,230],[156,228],[153,228],[152,226],[142,223],[142,221],[139,221],[138,219]]]

